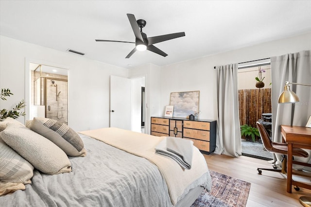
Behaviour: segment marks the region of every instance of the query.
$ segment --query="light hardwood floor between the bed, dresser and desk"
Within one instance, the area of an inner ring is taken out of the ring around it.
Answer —
[[[204,155],[209,170],[223,173],[251,183],[246,207],[302,207],[300,196],[311,196],[311,190],[300,188],[286,192],[286,175],[262,171],[257,168],[272,168],[266,160],[247,156],[234,158],[226,155]],[[310,183],[310,179],[309,179]]]

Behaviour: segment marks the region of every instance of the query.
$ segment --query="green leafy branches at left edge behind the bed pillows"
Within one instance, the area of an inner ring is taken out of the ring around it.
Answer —
[[[1,88],[1,96],[0,98],[2,100],[6,100],[6,97],[9,97],[11,95],[14,95],[13,93],[11,93],[10,89],[8,88]],[[7,109],[1,109],[0,111],[0,121],[5,120],[6,118],[10,117],[12,119],[17,119],[20,116],[25,116],[25,112],[24,111],[19,111],[22,108],[24,108],[25,102],[24,100],[21,100],[16,106],[15,108],[13,108],[12,110],[7,110]]]

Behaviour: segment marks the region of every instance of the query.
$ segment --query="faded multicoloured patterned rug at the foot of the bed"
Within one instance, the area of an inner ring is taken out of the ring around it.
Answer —
[[[212,189],[204,190],[191,207],[245,207],[251,183],[209,171]]]

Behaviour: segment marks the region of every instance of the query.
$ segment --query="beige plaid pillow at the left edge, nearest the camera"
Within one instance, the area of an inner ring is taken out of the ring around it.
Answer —
[[[17,154],[0,138],[0,180],[11,183],[31,183],[34,166]]]

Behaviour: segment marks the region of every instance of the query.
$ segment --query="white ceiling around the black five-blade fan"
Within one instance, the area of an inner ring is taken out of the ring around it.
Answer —
[[[127,13],[147,21],[148,37],[185,32],[157,43],[166,52],[135,52]],[[131,68],[169,65],[311,31],[310,0],[0,0],[0,35]],[[73,54],[72,55],[78,55]]]

